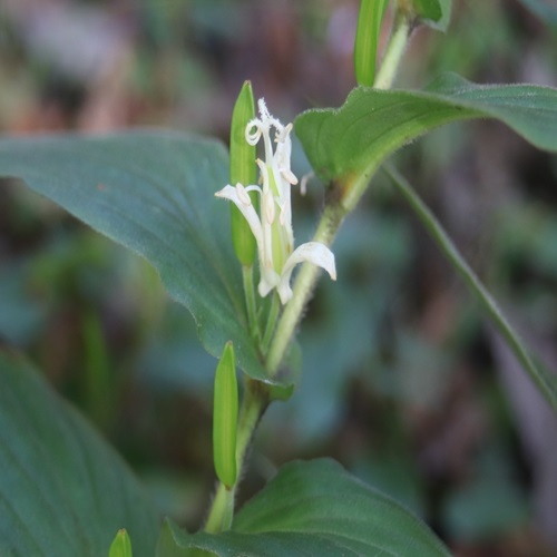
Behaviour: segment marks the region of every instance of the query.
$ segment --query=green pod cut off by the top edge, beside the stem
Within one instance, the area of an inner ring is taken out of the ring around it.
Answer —
[[[354,70],[358,85],[373,86],[379,35],[389,0],[361,0],[354,42]]]

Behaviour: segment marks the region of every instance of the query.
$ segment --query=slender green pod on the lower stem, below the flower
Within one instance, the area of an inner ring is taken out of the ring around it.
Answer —
[[[236,482],[236,429],[238,422],[238,384],[232,342],[224,346],[216,367],[213,408],[213,460],[215,471],[227,488]]]

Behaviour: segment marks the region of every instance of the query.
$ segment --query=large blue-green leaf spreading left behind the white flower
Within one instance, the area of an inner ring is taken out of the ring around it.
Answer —
[[[114,241],[143,255],[192,312],[206,350],[234,343],[240,365],[265,380],[250,336],[222,144],[172,131],[0,139],[0,176],[21,178]]]

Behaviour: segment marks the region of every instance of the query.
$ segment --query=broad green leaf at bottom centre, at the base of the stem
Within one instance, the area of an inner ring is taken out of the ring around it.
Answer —
[[[236,516],[232,531],[188,535],[167,521],[158,557],[190,555],[448,556],[429,528],[329,459],[291,462]]]

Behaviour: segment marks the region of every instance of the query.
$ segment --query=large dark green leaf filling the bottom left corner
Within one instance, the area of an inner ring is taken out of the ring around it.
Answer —
[[[35,370],[0,351],[0,555],[108,555],[126,528],[150,557],[158,518],[100,436]]]

